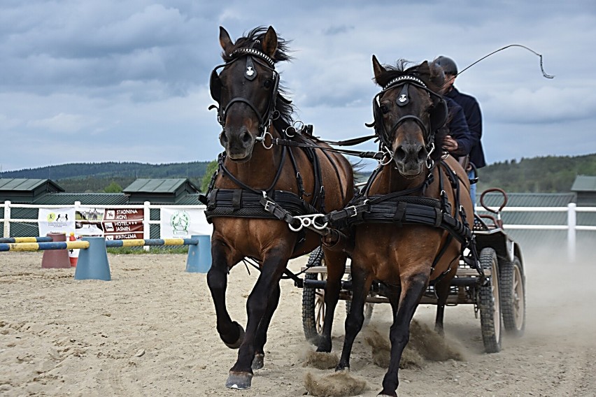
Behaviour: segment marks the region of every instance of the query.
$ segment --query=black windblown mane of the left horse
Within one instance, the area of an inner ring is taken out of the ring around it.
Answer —
[[[255,27],[255,29],[250,30],[247,34],[245,34],[245,36],[240,37],[236,40],[236,42],[234,43],[234,47],[230,51],[230,54],[232,54],[232,52],[234,52],[234,50],[237,50],[238,48],[255,48],[255,50],[263,51],[262,43],[263,43],[263,37],[265,36],[266,33],[267,33],[266,27],[263,27],[263,26]],[[277,36],[277,50],[274,54],[274,57],[271,58],[275,64],[277,64],[278,62],[283,62],[283,61],[290,62],[292,60],[292,57],[289,54],[289,52],[290,52],[290,49],[288,48],[289,43],[290,43],[290,41],[285,40],[284,38],[282,38],[279,35]],[[226,54],[225,51],[222,52],[222,59],[225,62],[232,61],[232,57],[229,54]],[[292,117],[292,114],[294,113],[295,108],[292,105],[292,103],[290,101],[288,101],[288,99],[285,99],[285,95],[287,95],[287,94],[288,94],[287,88],[285,86],[283,86],[280,81],[279,87],[278,87],[278,94],[277,94],[278,97],[277,97],[275,108],[276,108],[276,110],[278,110],[281,119],[284,122],[291,125],[294,123],[294,118]]]

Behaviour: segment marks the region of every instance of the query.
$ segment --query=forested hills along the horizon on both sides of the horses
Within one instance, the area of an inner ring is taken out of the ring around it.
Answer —
[[[76,163],[5,171],[0,178],[51,179],[66,192],[114,191],[106,187],[122,189],[137,178],[188,178],[200,187],[208,164],[208,161]],[[500,187],[506,192],[569,192],[576,175],[596,175],[596,154],[533,157],[490,164],[479,171],[478,192],[488,187]]]

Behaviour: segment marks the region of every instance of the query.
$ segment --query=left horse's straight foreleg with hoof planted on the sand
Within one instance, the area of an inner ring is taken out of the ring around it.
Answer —
[[[252,364],[255,358],[257,329],[259,329],[267,308],[275,308],[277,306],[277,303],[271,303],[270,306],[269,300],[279,298],[279,295],[275,291],[278,291],[279,280],[281,279],[283,269],[288,264],[288,257],[284,257],[282,252],[288,251],[290,250],[280,247],[275,252],[269,252],[264,257],[261,274],[253,291],[248,296],[248,301],[246,301],[246,311],[248,313],[246,333],[238,351],[238,359],[234,366],[230,368],[225,383],[225,386],[230,389],[250,389],[253,380]],[[261,330],[263,333],[267,332],[264,326],[268,325],[268,321],[263,324]]]

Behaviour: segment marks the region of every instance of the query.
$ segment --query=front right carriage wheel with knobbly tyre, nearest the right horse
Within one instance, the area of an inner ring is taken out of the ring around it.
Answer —
[[[487,353],[501,351],[501,310],[499,300],[499,262],[497,253],[492,248],[484,248],[480,253],[480,264],[483,269],[490,269],[491,276],[487,284],[480,287],[478,307],[480,308],[480,324],[482,341]]]

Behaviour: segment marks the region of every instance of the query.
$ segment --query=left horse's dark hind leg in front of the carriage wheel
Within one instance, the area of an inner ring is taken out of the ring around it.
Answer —
[[[343,252],[325,251],[325,262],[327,264],[325,319],[323,321],[317,352],[329,353],[332,349],[331,329],[333,326],[333,316],[337,301],[339,300],[341,277],[343,277],[343,274],[346,271],[346,259],[347,256]]]

